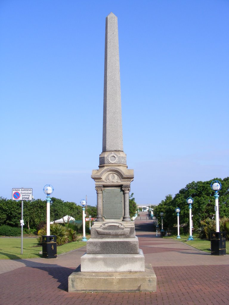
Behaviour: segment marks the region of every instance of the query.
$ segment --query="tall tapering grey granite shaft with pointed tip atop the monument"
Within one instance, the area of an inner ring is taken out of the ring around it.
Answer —
[[[103,152],[123,151],[118,18],[106,18],[104,62]]]

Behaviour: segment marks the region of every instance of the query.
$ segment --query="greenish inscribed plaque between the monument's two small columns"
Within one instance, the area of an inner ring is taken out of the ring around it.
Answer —
[[[106,219],[123,217],[123,192],[120,188],[103,190],[103,217]]]

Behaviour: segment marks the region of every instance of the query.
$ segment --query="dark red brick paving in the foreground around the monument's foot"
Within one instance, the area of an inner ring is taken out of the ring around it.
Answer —
[[[74,268],[21,267],[0,275],[1,305],[229,304],[229,266],[154,267],[157,292],[68,293]]]

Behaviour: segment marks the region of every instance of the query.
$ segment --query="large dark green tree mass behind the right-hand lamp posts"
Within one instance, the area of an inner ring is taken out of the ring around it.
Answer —
[[[222,188],[219,191],[220,217],[229,217],[229,177],[227,177],[224,179],[214,178],[209,181],[192,181],[180,189],[174,198],[172,195],[167,195],[165,200],[162,200],[154,209],[154,216],[158,218],[158,222],[161,223],[160,213],[163,212],[164,227],[176,225],[175,208],[179,207],[180,226],[187,226],[189,223],[189,207],[186,200],[190,196],[194,200],[192,204],[192,221],[195,228],[199,227],[200,221],[214,218],[215,198],[214,191],[210,187],[213,180],[219,180],[222,184]]]

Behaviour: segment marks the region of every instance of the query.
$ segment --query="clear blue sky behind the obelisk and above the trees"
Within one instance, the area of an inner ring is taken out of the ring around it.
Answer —
[[[1,0],[0,196],[96,205],[110,12],[136,202],[228,176],[229,1]]]

